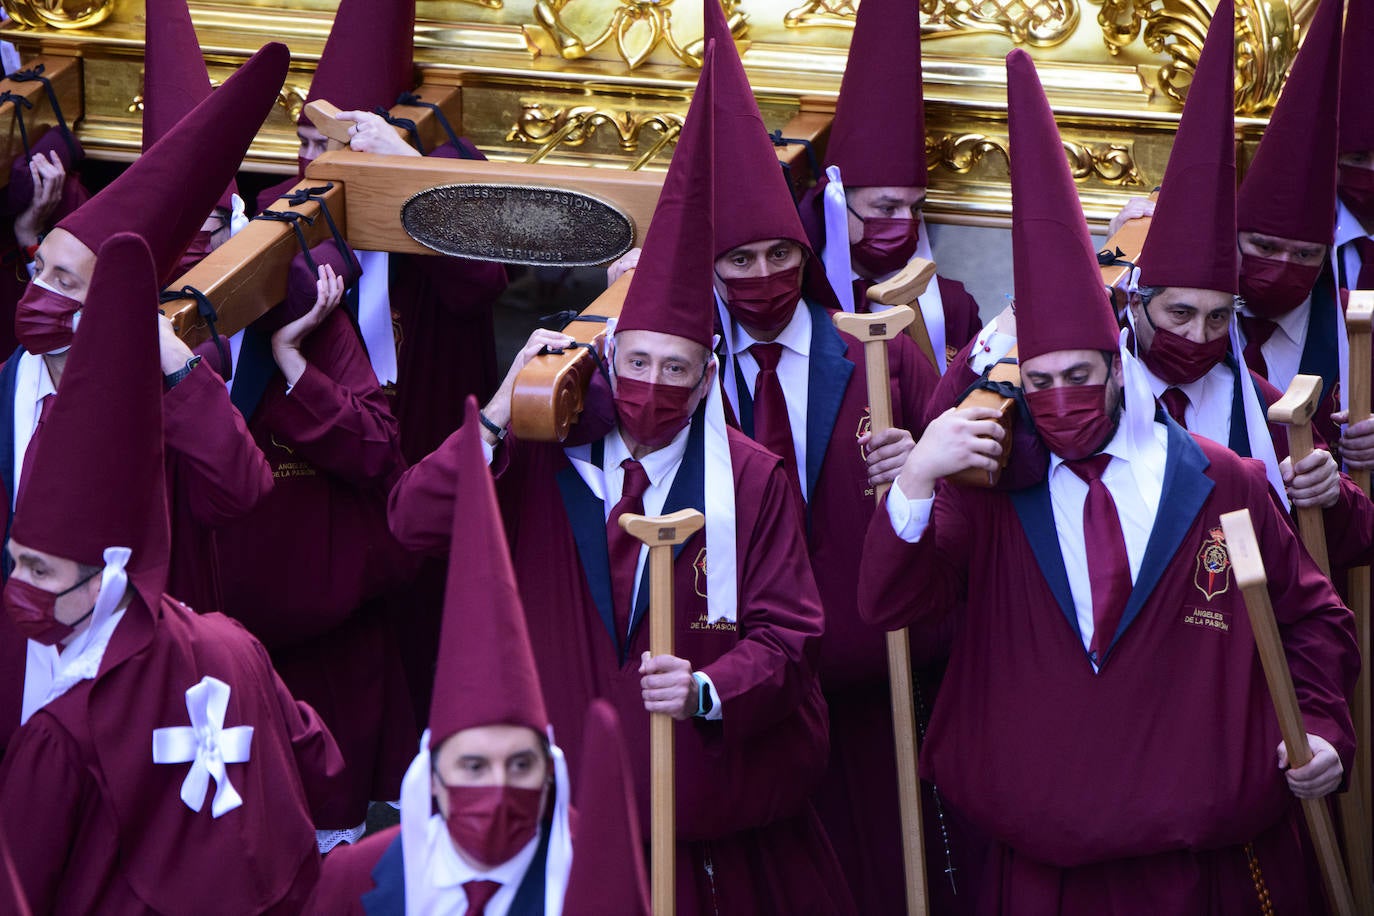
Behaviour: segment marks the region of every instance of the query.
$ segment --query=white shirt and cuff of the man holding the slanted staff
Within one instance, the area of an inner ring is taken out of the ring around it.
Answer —
[[[1145,548],[1150,542],[1150,531],[1160,509],[1164,492],[1164,463],[1168,456],[1168,430],[1162,423],[1153,424],[1154,438],[1142,453],[1132,455],[1124,430],[1118,428],[1107,446],[1102,449],[1112,456],[1102,482],[1117,507],[1121,519],[1121,534],[1125,538],[1127,559],[1131,564],[1131,581],[1135,582],[1145,559]],[[1054,509],[1054,529],[1059,536],[1059,553],[1063,556],[1063,570],[1069,578],[1069,592],[1079,618],[1079,634],[1083,648],[1092,644],[1092,578],[1088,570],[1087,537],[1083,530],[1083,504],[1088,499],[1088,485],[1065,467],[1063,459],[1050,456],[1050,504]],[[915,544],[930,523],[930,509],[934,497],[925,500],[908,499],[901,488],[892,485],[888,496],[888,519],[897,536]],[[1094,666],[1096,667],[1096,666]]]

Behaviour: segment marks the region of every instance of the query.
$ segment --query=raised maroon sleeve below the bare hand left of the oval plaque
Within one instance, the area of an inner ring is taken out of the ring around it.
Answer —
[[[273,411],[273,434],[344,481],[389,485],[403,467],[396,417],[348,316],[326,319],[302,356],[308,367]]]

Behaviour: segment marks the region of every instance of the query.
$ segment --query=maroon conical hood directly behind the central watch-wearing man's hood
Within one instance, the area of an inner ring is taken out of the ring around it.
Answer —
[[[716,40],[714,255],[763,239],[807,244],[797,203],[749,88],[719,0],[705,0],[706,40]]]

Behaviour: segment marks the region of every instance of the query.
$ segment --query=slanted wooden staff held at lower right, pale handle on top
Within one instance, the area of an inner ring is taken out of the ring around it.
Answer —
[[[1264,574],[1264,558],[1254,540],[1254,526],[1249,509],[1227,512],[1221,516],[1221,530],[1226,533],[1226,549],[1231,558],[1235,581],[1245,596],[1245,610],[1254,632],[1254,647],[1264,666],[1264,680],[1270,685],[1270,698],[1279,717],[1279,731],[1287,748],[1289,765],[1303,766],[1312,759],[1307,743],[1307,728],[1303,725],[1303,711],[1293,689],[1293,673],[1283,655],[1279,628],[1274,621],[1274,606],[1270,604],[1268,580]],[[1259,764],[1259,761],[1256,761]],[[1322,867],[1322,880],[1326,884],[1327,902],[1337,916],[1355,916],[1355,906],[1345,865],[1341,862],[1341,849],[1336,842],[1336,828],[1325,798],[1304,798],[1303,814],[1307,817],[1312,846],[1316,849]]]

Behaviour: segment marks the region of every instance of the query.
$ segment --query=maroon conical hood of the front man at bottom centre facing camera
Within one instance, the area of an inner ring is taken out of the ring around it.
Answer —
[[[464,728],[548,728],[475,398],[459,430],[458,497],[430,705],[430,748]]]

